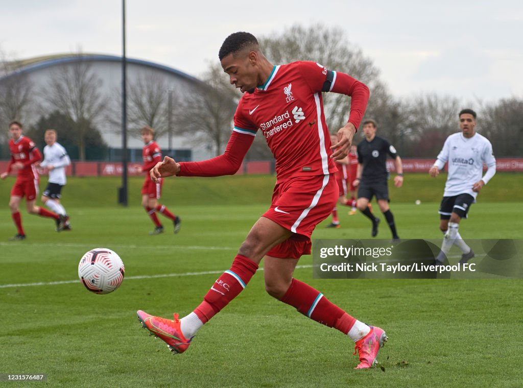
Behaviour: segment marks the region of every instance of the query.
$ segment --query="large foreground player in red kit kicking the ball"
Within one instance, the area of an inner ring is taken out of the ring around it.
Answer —
[[[387,338],[385,332],[358,321],[320,291],[292,276],[300,256],[311,252],[314,227],[327,218],[338,199],[334,161],[349,151],[369,89],[346,74],[314,62],[272,65],[256,38],[247,32],[226,38],[219,58],[231,84],[247,92],[236,108],[234,129],[224,154],[186,163],[165,157],[151,170],[151,178],[234,174],[259,131],[276,158],[272,203],[247,234],[231,268],[214,282],[193,312],[181,319],[174,314],[173,320],[140,310],[138,317],[170,350],[184,352],[197,330],[245,288],[264,259],[267,292],[314,321],[348,335],[356,341],[360,359],[357,368],[370,368]],[[322,92],[351,96],[349,120],[337,132],[337,143],[332,146]]]

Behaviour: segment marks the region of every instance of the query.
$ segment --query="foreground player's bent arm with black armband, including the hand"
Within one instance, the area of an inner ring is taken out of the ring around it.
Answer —
[[[365,115],[369,88],[348,74],[328,70],[318,63],[301,62],[300,70],[312,93],[333,92],[351,97],[349,119],[337,132],[338,142],[331,146],[331,149],[335,150],[331,157],[335,160],[343,159],[349,154],[354,134]]]

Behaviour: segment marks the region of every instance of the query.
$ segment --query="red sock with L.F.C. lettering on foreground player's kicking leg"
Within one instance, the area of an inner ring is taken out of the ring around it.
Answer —
[[[251,259],[236,255],[231,269],[223,272],[212,285],[203,302],[196,307],[194,313],[200,321],[206,323],[223,309],[230,301],[243,291],[246,284],[256,273],[258,265]]]

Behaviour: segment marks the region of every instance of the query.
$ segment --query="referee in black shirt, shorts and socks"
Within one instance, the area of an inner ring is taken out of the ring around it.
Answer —
[[[372,214],[369,201],[373,196],[378,200],[378,206],[385,216],[392,232],[392,241],[400,241],[396,232],[394,216],[389,209],[389,189],[387,180],[389,172],[386,168],[386,158],[389,154],[394,159],[397,175],[394,177],[394,186],[403,185],[403,165],[396,149],[385,139],[376,136],[378,125],[374,120],[363,122],[365,140],[358,144],[358,169],[354,187],[358,187],[358,209],[372,221],[372,237],[378,234],[380,219]]]

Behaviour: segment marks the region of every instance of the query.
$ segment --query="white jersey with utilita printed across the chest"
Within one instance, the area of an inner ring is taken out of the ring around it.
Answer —
[[[436,165],[442,168],[447,161],[449,175],[444,197],[467,193],[476,198],[477,192],[472,191],[472,185],[480,179],[486,184],[491,178],[482,178],[483,163],[489,168],[493,167],[495,173],[496,158],[492,152],[492,144],[477,132],[472,138],[465,138],[461,132],[451,134],[438,155]]]

